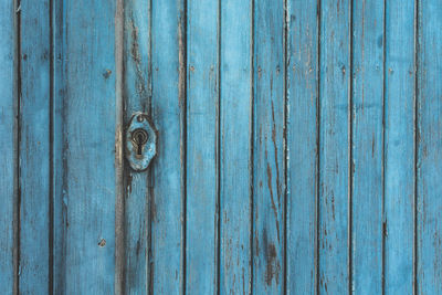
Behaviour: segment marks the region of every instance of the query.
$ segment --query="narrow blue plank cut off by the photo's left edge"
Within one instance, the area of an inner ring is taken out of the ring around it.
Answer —
[[[17,27],[15,2],[0,2],[0,293],[14,294],[17,261]]]

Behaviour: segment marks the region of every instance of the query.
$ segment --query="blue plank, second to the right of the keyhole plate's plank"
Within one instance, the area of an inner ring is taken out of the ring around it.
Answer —
[[[188,0],[186,293],[218,277],[219,2]]]

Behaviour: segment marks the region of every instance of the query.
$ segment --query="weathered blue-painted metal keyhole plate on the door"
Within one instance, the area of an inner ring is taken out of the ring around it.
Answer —
[[[135,171],[144,171],[157,155],[157,130],[147,114],[136,113],[126,130],[126,158]]]

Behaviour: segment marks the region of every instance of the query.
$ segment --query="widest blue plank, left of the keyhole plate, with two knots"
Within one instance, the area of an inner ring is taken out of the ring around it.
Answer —
[[[66,294],[113,294],[115,1],[65,0]]]

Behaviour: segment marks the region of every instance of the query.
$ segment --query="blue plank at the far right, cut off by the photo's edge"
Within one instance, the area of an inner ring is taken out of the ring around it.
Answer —
[[[442,7],[418,2],[418,293],[442,293]]]

